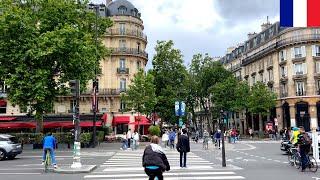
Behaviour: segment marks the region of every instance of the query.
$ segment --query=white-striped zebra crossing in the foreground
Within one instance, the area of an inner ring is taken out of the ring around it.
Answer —
[[[147,175],[142,167],[143,150],[121,151],[104,162],[99,168],[84,176],[86,180],[137,180],[147,179]],[[236,175],[233,171],[218,170],[212,162],[209,162],[196,154],[190,152],[187,155],[187,168],[179,167],[180,155],[176,151],[167,151],[171,170],[165,172],[166,180],[206,180],[206,179],[245,179]]]

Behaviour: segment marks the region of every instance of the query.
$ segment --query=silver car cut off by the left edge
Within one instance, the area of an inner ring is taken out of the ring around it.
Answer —
[[[5,158],[14,159],[22,153],[21,144],[16,137],[8,134],[0,134],[0,161]]]

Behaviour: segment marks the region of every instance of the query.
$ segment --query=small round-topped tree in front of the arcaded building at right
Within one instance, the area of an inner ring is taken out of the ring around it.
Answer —
[[[257,82],[252,86],[248,97],[248,108],[253,114],[259,114],[259,130],[262,131],[262,116],[268,115],[270,109],[276,105],[276,94],[271,92],[262,82]]]

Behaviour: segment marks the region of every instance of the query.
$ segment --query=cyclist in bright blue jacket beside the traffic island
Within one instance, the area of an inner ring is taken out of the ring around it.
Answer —
[[[53,137],[52,133],[49,132],[46,137],[43,138],[43,158],[42,165],[44,165],[44,161],[47,156],[47,151],[50,151],[51,161],[54,168],[57,168],[57,163],[54,155],[54,149],[56,147],[56,139]]]

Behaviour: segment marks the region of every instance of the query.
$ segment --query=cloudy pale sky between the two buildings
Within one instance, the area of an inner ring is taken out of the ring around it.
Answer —
[[[140,12],[148,36],[147,68],[157,40],[173,40],[188,65],[197,53],[224,56],[228,47],[260,32],[261,24],[279,21],[279,0],[128,0]],[[93,0],[105,3],[105,0]]]

